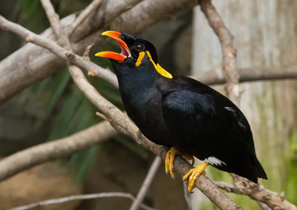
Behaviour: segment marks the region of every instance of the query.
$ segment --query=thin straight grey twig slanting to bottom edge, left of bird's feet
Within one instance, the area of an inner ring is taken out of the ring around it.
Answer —
[[[153,160],[149,170],[148,170],[148,174],[144,180],[144,183],[142,184],[137,196],[136,196],[136,199],[134,200],[133,204],[131,205],[130,207],[130,210],[138,210],[140,204],[143,202],[147,192],[148,192],[148,189],[150,187],[150,184],[161,164],[161,158],[159,158],[158,156],[155,157],[155,159]]]

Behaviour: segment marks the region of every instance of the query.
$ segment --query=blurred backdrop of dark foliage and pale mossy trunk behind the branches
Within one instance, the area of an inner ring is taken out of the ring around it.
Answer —
[[[84,9],[90,0],[51,0],[60,17]],[[213,0],[225,24],[235,36],[237,67],[279,67],[296,65],[297,1]],[[40,0],[0,0],[0,14],[39,34],[49,27]],[[221,68],[221,47],[199,7],[180,12],[143,31],[152,42],[160,65],[175,75],[198,74]],[[25,42],[0,31],[0,60]],[[91,59],[110,67],[95,52],[117,50],[116,42],[92,48]],[[123,110],[112,85],[89,78],[99,92]],[[297,205],[297,84],[293,80],[241,84],[247,91],[241,109],[249,121],[257,156],[269,180],[268,189],[285,191],[285,198]],[[214,86],[224,93],[222,85]],[[0,158],[27,147],[62,138],[101,121],[97,109],[63,69],[33,85],[0,106]],[[0,183],[0,210],[51,198],[97,192],[122,191],[137,194],[154,155],[128,136],[117,135],[71,157],[25,170]],[[207,168],[214,180],[232,181],[229,174]],[[228,194],[243,209],[258,210],[248,197]],[[198,190],[191,195],[194,210],[217,208]],[[181,177],[167,176],[162,163],[145,199],[158,210],[185,210]],[[44,210],[126,210],[131,202],[123,198],[76,201],[47,206]]]

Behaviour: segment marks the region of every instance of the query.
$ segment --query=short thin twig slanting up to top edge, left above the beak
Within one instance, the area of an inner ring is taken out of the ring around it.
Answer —
[[[71,24],[68,36],[70,37],[74,30],[95,10],[99,7],[103,0],[93,0],[75,19],[75,21]]]

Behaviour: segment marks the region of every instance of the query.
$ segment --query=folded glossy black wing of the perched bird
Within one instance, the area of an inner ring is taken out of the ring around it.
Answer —
[[[200,160],[213,156],[212,152],[222,160],[224,154],[219,150],[249,150],[250,140],[245,137],[247,127],[238,122],[239,113],[218,103],[213,95],[170,91],[163,96],[162,111],[179,148],[193,154],[204,145],[205,149],[199,148]]]

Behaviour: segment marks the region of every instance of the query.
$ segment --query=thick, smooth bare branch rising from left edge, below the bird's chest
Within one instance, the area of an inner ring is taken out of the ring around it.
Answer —
[[[114,137],[116,134],[118,132],[107,121],[104,121],[65,138],[14,153],[0,160],[0,181],[38,164],[67,157],[87,149]]]

